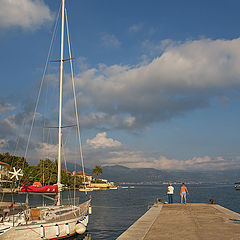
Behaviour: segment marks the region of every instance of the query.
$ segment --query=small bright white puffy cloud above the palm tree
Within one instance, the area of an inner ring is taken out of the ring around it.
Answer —
[[[98,133],[95,138],[87,139],[87,145],[92,148],[115,148],[120,147],[122,144],[112,138],[107,138],[107,133]]]

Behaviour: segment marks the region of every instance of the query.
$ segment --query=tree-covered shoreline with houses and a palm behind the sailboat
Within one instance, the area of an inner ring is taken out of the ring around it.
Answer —
[[[20,169],[20,171],[19,171]],[[15,180],[12,176],[19,172],[21,178]],[[62,169],[61,183],[63,190],[79,189],[93,191],[103,189],[118,189],[114,182],[101,179],[101,166],[96,166],[91,174]],[[19,191],[22,185],[42,187],[54,185],[57,182],[57,162],[50,159],[40,160],[36,166],[30,166],[24,158],[12,156],[9,153],[0,154],[0,191]]]

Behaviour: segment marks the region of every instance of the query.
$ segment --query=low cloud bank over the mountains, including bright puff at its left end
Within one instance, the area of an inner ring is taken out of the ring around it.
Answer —
[[[195,156],[191,159],[170,159],[167,156],[129,148],[106,132],[98,133],[84,145],[88,166],[122,165],[129,168],[155,168],[159,170],[228,170],[240,168],[240,157],[226,159],[222,156]]]

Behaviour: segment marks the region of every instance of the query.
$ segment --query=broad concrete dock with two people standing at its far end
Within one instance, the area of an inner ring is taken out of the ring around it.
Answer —
[[[240,214],[218,204],[154,204],[117,240],[240,239]]]

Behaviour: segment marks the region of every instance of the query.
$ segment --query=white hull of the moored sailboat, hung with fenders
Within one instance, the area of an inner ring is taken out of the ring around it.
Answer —
[[[47,213],[45,219],[38,219],[24,222],[23,218],[17,218],[10,215],[7,221],[0,223],[0,239],[1,240],[40,240],[40,239],[61,239],[72,236],[74,234],[83,234],[88,224],[88,208],[90,201],[74,207],[66,208],[60,206],[54,210],[42,209]],[[27,213],[27,212],[25,212]],[[55,216],[55,219],[48,219],[47,216]],[[23,214],[21,215],[23,216]],[[29,218],[28,218],[29,219]],[[14,222],[14,224],[13,224]]]

